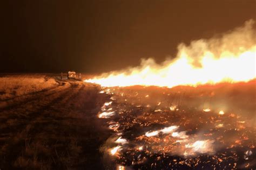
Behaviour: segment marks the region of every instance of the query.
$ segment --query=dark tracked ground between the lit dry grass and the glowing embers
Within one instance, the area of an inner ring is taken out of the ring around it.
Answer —
[[[96,117],[107,98],[75,80],[1,100],[0,169],[103,169],[110,136]]]

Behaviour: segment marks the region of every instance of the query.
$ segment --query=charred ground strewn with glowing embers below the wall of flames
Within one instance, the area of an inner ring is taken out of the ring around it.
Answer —
[[[106,88],[106,169],[255,168],[255,81]],[[113,165],[113,162],[115,164]]]

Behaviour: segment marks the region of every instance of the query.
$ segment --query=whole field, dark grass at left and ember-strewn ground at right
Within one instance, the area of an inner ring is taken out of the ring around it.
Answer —
[[[255,84],[112,87],[1,75],[1,169],[255,168]]]

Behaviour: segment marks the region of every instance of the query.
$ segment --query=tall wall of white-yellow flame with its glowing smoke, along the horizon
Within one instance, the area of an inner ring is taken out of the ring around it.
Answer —
[[[220,38],[180,44],[177,57],[160,65],[142,60],[139,67],[105,73],[85,82],[104,87],[198,86],[220,82],[248,82],[255,79],[256,38],[254,21],[223,34]]]

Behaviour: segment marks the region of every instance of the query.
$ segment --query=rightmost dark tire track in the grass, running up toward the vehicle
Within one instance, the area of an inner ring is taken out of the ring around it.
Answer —
[[[64,91],[61,91],[62,93],[59,94],[58,96],[49,96],[49,97],[55,97],[55,98],[52,98],[51,101],[41,104],[40,107],[35,110],[30,110],[30,112],[26,114],[26,117],[23,120],[24,122],[20,124],[18,127],[13,126],[12,128],[11,127],[8,128],[9,131],[16,132],[16,133],[12,133],[8,136],[6,135],[6,133],[3,132],[3,130],[1,130],[2,131],[1,134],[5,134],[4,137],[7,138],[7,140],[5,140],[0,150],[0,158],[2,157],[0,160],[0,165],[8,166],[6,165],[7,161],[10,163],[16,160],[17,155],[19,155],[21,151],[24,149],[24,140],[28,135],[29,129],[33,128],[33,125],[36,123],[37,119],[44,117],[45,116],[44,113],[46,111],[49,112],[50,110],[57,107],[58,105],[61,106],[66,102],[68,102],[69,100],[72,100],[72,96],[75,96],[83,88],[84,88],[84,85],[79,86],[78,84],[71,83],[70,88],[67,88]],[[47,97],[45,100],[48,100],[49,97]],[[36,102],[38,101],[32,102],[32,104],[36,104]],[[15,108],[13,110],[14,112],[17,112]],[[18,132],[17,132],[17,129],[19,129]],[[17,138],[18,138],[18,141],[17,141]],[[11,148],[16,148],[16,150],[8,153],[5,152],[5,151],[10,151]]]

